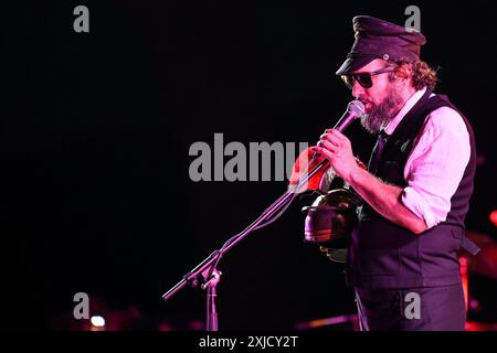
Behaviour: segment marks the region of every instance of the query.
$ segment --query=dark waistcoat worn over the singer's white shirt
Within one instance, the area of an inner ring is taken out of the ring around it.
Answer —
[[[404,188],[403,171],[413,141],[426,117],[440,107],[458,111],[446,96],[431,97],[427,89],[405,115],[384,145],[376,175],[384,182]],[[458,111],[461,114],[461,111]],[[458,250],[472,254],[478,248],[465,237],[464,220],[473,193],[476,148],[473,129],[463,117],[470,141],[470,158],[463,179],[451,199],[445,222],[414,234],[379,215],[367,203],[359,210],[359,224],[349,244],[346,277],[352,287],[414,288],[448,286],[461,282]],[[374,153],[374,151],[373,151]]]

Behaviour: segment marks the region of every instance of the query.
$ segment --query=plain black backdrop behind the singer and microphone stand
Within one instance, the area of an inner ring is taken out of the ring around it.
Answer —
[[[73,9],[89,9],[89,33]],[[73,296],[94,312],[133,308],[131,329],[191,330],[204,293],[161,295],[268,206],[285,182],[199,182],[189,148],[314,143],[351,99],[335,76],[351,19],[399,24],[421,9],[422,57],[438,92],[470,119],[479,167],[469,229],[495,238],[496,30],[490,1],[51,1],[6,9],[2,22],[2,327],[77,329]],[[372,137],[349,129],[367,160]],[[228,160],[228,158],[225,159]],[[293,329],[355,312],[342,268],[304,244],[297,201],[233,248],[219,268],[223,330]],[[496,284],[470,277],[495,320]],[[486,299],[487,298],[487,299]],[[98,311],[99,310],[99,311]],[[479,315],[479,317],[478,317]]]

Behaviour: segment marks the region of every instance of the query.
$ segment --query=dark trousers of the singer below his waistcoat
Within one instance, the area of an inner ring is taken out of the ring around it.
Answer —
[[[464,331],[461,284],[433,288],[356,288],[361,331]]]

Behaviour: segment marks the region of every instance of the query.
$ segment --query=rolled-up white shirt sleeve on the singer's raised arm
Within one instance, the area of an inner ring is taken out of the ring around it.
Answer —
[[[444,222],[451,199],[470,157],[469,133],[461,115],[442,107],[432,111],[405,163],[401,202],[429,228]]]

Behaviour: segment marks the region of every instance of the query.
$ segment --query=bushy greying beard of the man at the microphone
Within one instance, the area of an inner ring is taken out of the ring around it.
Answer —
[[[362,103],[370,103],[372,106],[370,111],[361,117],[362,127],[370,133],[380,132],[382,128],[393,120],[400,108],[405,104],[394,86],[389,88],[389,94],[379,105],[369,99],[362,100]]]

